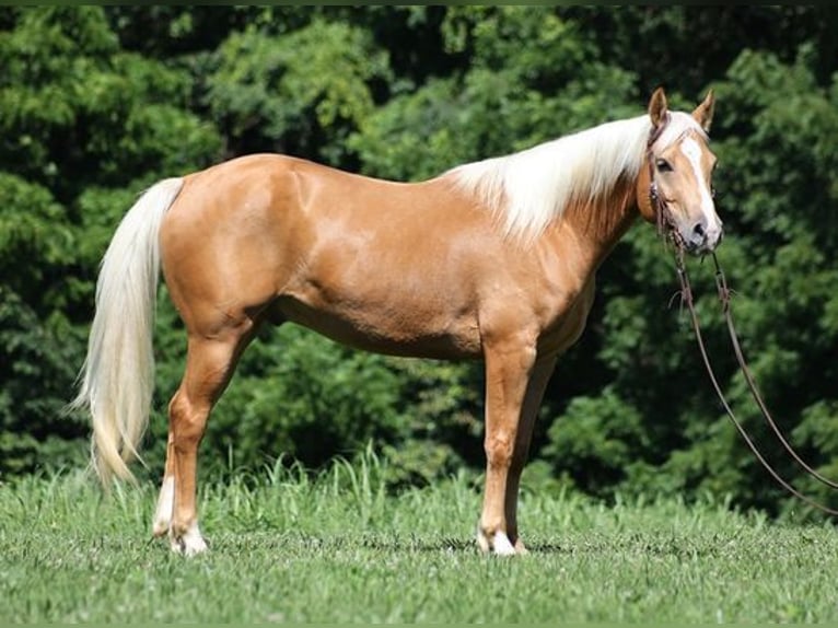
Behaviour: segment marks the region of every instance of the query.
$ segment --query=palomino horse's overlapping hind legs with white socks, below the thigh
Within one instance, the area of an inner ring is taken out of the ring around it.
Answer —
[[[189,337],[186,372],[168,405],[166,468],[154,523],[155,534],[168,530],[175,551],[190,555],[207,548],[196,505],[198,445],[249,338],[249,332],[238,328],[211,338]]]

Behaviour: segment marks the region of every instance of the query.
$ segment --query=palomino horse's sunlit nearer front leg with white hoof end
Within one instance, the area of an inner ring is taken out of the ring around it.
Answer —
[[[535,363],[534,342],[507,341],[487,346],[486,359],[486,487],[477,543],[484,551],[515,553],[510,539],[507,501],[517,479],[510,474],[519,442],[521,412]],[[525,428],[526,429],[526,428]],[[525,440],[528,441],[528,438]],[[516,531],[514,531],[516,534]]]

